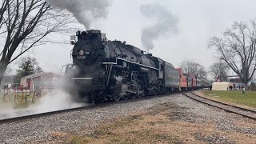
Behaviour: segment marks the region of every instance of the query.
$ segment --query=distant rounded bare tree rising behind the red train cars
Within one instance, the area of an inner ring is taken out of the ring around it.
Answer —
[[[205,68],[197,62],[183,61],[181,64],[182,71],[185,74],[195,74],[200,79],[207,79]]]

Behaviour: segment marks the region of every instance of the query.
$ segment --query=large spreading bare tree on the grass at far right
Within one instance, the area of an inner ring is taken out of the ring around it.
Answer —
[[[214,48],[247,86],[256,70],[256,21],[234,22],[221,38],[211,38],[208,47]]]

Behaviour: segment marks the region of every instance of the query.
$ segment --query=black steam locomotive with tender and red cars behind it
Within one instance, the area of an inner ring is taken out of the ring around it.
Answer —
[[[100,30],[78,31],[70,42],[74,45],[73,64],[67,66],[66,76],[71,80],[68,89],[78,96],[76,99],[119,101],[199,86],[196,77],[184,76],[169,62],[126,42],[109,41]]]

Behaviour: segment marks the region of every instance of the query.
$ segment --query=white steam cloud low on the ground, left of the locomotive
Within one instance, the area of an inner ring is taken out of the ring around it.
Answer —
[[[73,78],[77,71],[69,71],[65,77],[54,80],[54,82],[49,82],[48,86],[40,86],[42,88],[42,97],[35,98],[36,103],[34,105],[28,105],[28,107],[23,109],[15,109],[14,98],[5,105],[0,105],[0,120],[4,118],[14,118],[21,117],[31,114],[42,114],[50,111],[66,110],[82,106],[91,106],[90,103],[85,103],[82,100],[78,100],[78,95],[76,94],[76,89],[74,83],[70,78]],[[47,89],[48,87],[48,89]],[[49,88],[54,88],[50,90]],[[72,90],[73,94],[70,94]],[[14,90],[11,90],[10,94],[14,94]],[[34,94],[34,92],[32,93]],[[0,94],[2,97],[2,94]],[[17,100],[16,100],[17,101]],[[32,101],[32,99],[28,99]],[[24,102],[24,101],[23,101]]]

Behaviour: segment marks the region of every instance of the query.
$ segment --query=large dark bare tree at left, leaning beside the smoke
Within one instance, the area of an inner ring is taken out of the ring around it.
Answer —
[[[6,67],[34,46],[49,42],[48,34],[69,29],[66,12],[55,12],[44,0],[0,2],[0,82]]]

